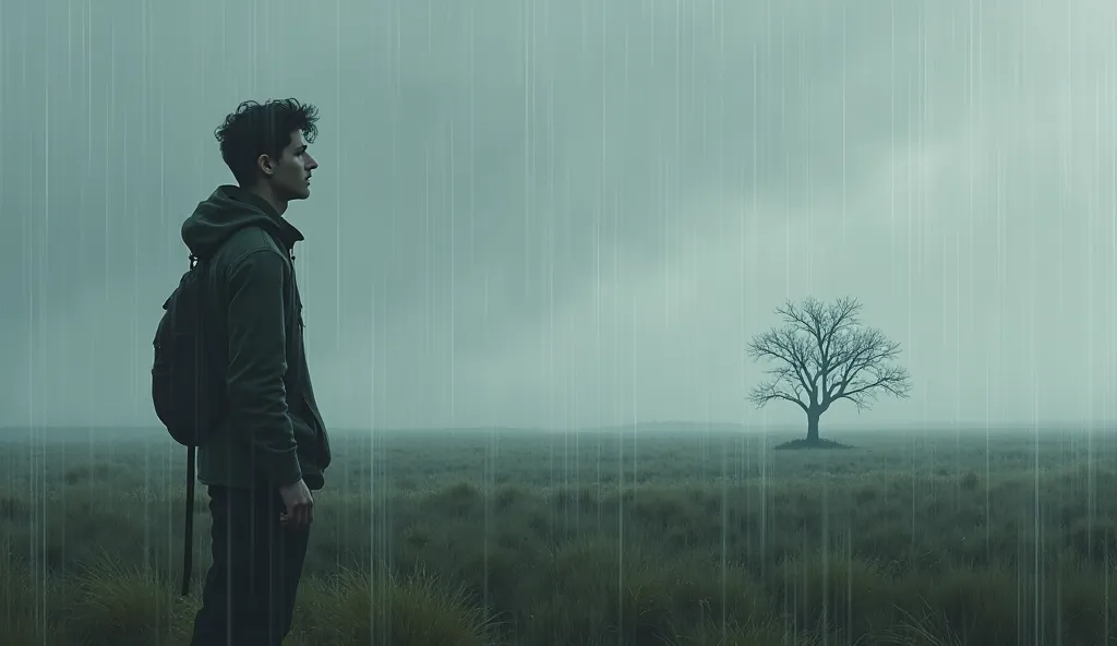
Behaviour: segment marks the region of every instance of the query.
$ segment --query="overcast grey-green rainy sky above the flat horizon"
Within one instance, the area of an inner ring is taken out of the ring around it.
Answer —
[[[1117,387],[1117,3],[4,0],[0,425],[146,425],[182,220],[242,99],[321,110],[287,217],[335,427],[799,421],[784,298],[911,398],[1085,424]]]

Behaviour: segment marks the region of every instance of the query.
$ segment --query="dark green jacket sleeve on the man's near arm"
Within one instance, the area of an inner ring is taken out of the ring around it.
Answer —
[[[279,254],[260,249],[231,265],[227,275],[229,430],[248,435],[255,468],[280,486],[303,477],[284,387],[286,272]]]

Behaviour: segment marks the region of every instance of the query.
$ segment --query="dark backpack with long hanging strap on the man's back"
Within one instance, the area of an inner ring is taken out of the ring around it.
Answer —
[[[194,455],[225,414],[226,388],[217,346],[204,316],[207,264],[190,256],[190,269],[163,303],[153,341],[151,395],[155,415],[171,438],[187,447],[187,511],[182,555],[182,596],[190,589],[194,528]]]

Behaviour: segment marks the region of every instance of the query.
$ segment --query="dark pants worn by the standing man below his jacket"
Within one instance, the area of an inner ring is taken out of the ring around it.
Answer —
[[[279,525],[278,490],[210,486],[213,564],[191,646],[278,646],[290,631],[309,528]]]

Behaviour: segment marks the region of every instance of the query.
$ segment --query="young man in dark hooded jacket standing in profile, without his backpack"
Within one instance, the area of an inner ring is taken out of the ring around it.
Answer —
[[[239,186],[221,186],[182,225],[208,259],[207,314],[227,354],[228,415],[198,447],[213,566],[194,618],[194,646],[278,646],[290,631],[314,497],[330,439],[303,344],[303,303],[284,219],[311,194],[307,144],[317,110],[294,99],[242,103],[216,136]],[[226,346],[227,345],[227,346]]]

